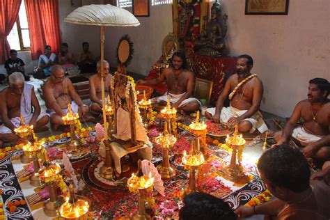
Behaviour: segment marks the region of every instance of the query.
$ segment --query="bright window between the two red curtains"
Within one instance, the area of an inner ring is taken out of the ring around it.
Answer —
[[[21,6],[19,7],[17,20],[13,26],[13,29],[10,31],[7,40],[9,42],[10,49],[30,49],[29,25],[27,22],[24,0],[22,0]]]

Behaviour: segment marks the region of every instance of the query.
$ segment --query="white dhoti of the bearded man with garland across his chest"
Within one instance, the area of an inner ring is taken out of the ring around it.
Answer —
[[[214,116],[215,108],[210,108],[206,110],[208,113],[212,114]],[[232,117],[239,117],[242,116],[244,113],[246,113],[247,110],[239,110],[235,109],[234,107],[224,107],[221,109],[220,113],[220,120],[223,123],[228,123],[228,120]],[[262,120],[262,115],[260,111],[257,111],[256,113],[251,116],[251,118],[245,118],[244,120],[249,120],[249,122],[252,124],[252,128],[250,130],[250,133],[253,133],[258,129],[260,133],[267,131],[267,125]]]

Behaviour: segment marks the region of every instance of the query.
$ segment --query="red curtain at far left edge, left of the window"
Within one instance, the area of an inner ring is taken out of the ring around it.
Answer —
[[[7,36],[16,22],[21,2],[22,0],[0,1],[0,64],[5,63],[6,59],[9,58],[10,46]]]

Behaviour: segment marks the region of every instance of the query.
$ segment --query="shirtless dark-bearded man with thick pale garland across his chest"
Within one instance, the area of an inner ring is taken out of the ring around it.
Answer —
[[[237,73],[226,81],[216,107],[207,109],[205,112],[207,118],[212,118],[214,123],[221,121],[231,126],[238,123],[239,132],[253,133],[258,129],[263,133],[267,130],[267,125],[258,111],[263,93],[262,81],[256,74],[251,74],[252,67],[251,56],[244,54],[238,57]],[[223,102],[228,95],[230,107],[223,108]]]

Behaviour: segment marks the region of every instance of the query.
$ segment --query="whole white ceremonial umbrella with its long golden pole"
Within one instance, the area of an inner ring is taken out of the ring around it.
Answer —
[[[140,22],[132,13],[123,8],[111,5],[82,6],[65,17],[64,22],[72,24],[101,26],[101,86],[102,86],[102,109],[105,139],[109,139],[107,132],[107,116],[105,113],[104,95],[104,27],[105,26],[139,26]]]

